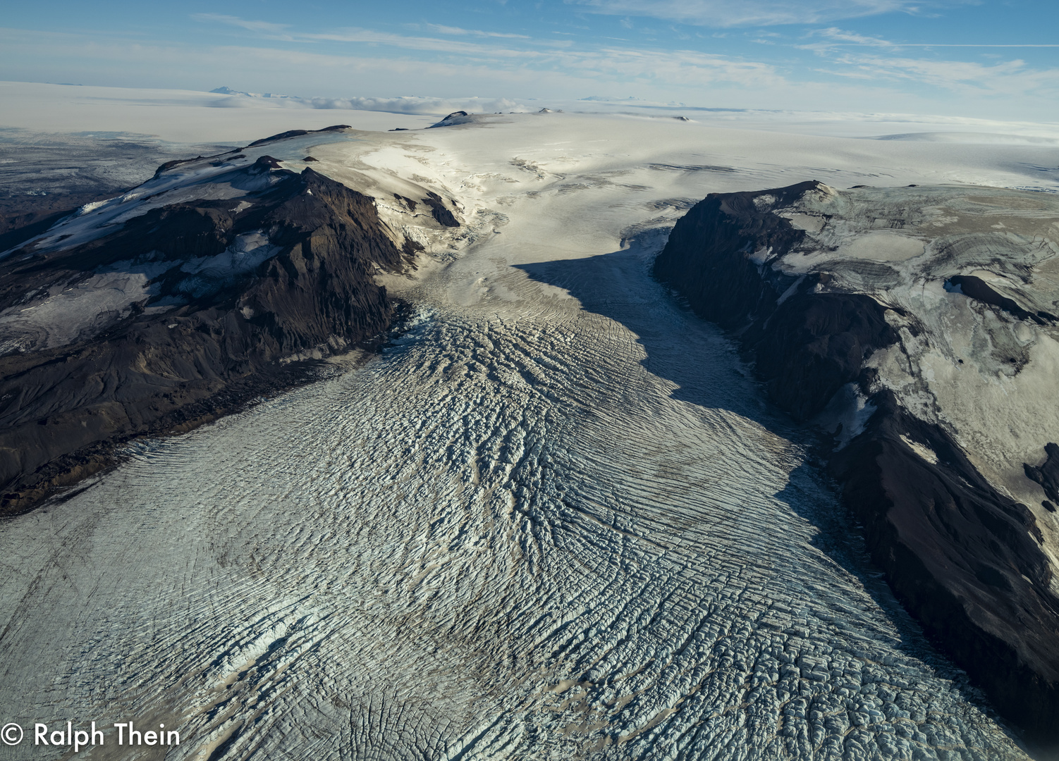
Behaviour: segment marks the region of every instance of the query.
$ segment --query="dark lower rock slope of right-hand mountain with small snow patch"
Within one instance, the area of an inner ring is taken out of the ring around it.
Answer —
[[[1059,610],[1033,514],[889,391],[831,457],[872,558],[931,638],[1043,747],[1059,744]],[[902,438],[903,436],[903,438]],[[926,446],[925,459],[907,440]]]

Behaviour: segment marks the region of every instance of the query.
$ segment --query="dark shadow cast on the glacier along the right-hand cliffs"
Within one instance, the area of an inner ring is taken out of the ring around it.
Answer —
[[[515,267],[533,280],[568,291],[587,311],[632,331],[645,354],[641,364],[652,375],[676,384],[671,398],[736,413],[811,451],[819,443],[815,435],[767,401],[764,387],[740,359],[734,342],[651,277],[651,262],[667,234],[649,233],[609,254]],[[809,459],[803,461],[773,496],[816,527],[811,544],[861,582],[897,629],[899,641],[894,642],[895,647],[948,672],[950,678],[964,681],[962,672],[937,654],[897,602],[881,572],[870,562],[860,531],[841,507],[833,484],[818,466]],[[973,691],[965,697],[982,704]]]

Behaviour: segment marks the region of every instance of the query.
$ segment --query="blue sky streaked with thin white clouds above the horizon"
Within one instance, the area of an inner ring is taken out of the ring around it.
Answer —
[[[1055,0],[8,3],[0,78],[1059,122]]]

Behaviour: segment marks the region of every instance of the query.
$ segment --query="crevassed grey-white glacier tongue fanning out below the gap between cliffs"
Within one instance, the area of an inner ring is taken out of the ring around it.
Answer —
[[[176,758],[1015,755],[814,546],[832,497],[725,342],[612,256],[654,334],[439,310],[11,526],[47,592],[5,682],[56,678],[23,711],[158,717]]]

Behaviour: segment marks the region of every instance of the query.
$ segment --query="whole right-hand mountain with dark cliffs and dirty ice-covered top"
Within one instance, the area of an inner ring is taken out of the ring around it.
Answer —
[[[1047,749],[1056,241],[1046,194],[806,182],[707,196],[654,265],[737,337],[779,406],[833,436],[831,472],[898,598]]]

